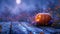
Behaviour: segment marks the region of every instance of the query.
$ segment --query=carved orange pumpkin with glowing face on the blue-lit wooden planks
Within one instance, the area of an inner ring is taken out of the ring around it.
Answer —
[[[51,16],[50,16],[49,13],[38,13],[35,16],[35,21],[38,24],[45,24],[45,25],[47,25],[50,20],[51,20]]]

